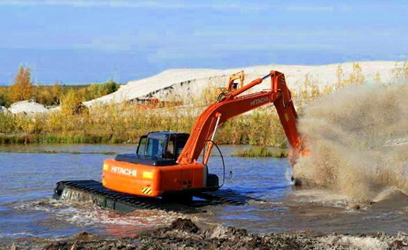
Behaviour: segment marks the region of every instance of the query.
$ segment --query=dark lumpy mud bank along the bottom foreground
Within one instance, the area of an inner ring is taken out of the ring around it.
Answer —
[[[86,232],[66,239],[19,239],[1,249],[407,249],[408,235],[322,235],[317,232],[253,234],[244,229],[214,225],[197,226],[190,219],[176,219],[170,226],[136,237],[104,239]]]

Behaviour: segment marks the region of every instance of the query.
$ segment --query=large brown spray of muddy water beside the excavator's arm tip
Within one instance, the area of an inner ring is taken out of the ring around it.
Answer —
[[[295,177],[356,201],[408,193],[408,84],[361,86],[311,103],[299,120],[309,157]]]

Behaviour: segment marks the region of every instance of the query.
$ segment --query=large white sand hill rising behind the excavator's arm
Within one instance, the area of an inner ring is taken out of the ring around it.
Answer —
[[[374,82],[377,72],[379,72],[382,82],[391,81],[393,77],[392,70],[395,67],[393,61],[359,62],[359,65],[367,83]],[[353,63],[342,63],[341,67],[347,77],[352,72]],[[317,85],[323,88],[336,83],[337,69],[338,64],[317,66],[272,64],[228,70],[188,68],[166,70],[146,79],[130,81],[115,93],[91,100],[85,104],[91,106],[96,102],[123,102],[138,97],[157,97],[159,100],[171,100],[174,94],[188,98],[189,95],[200,95],[208,84],[225,87],[228,84],[229,76],[240,70],[245,71],[245,84],[253,79],[267,75],[270,70],[277,70],[285,74],[292,91],[296,91],[303,86],[306,75],[309,75],[310,79],[317,81]],[[270,81],[264,81],[256,87],[256,90],[268,88],[269,86]]]

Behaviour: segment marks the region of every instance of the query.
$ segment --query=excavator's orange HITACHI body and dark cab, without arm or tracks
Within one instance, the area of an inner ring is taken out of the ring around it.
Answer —
[[[102,185],[109,189],[139,196],[191,196],[219,188],[217,175],[208,173],[206,165],[181,167],[177,160],[189,139],[179,132],[150,132],[141,136],[135,153],[106,159]]]

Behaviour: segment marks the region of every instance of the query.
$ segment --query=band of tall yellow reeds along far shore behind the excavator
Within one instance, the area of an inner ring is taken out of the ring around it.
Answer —
[[[285,146],[273,108],[231,119],[218,130],[217,142]],[[139,109],[135,104],[101,105],[75,115],[0,114],[0,143],[137,143],[150,131],[190,132],[197,117],[194,109]]]

